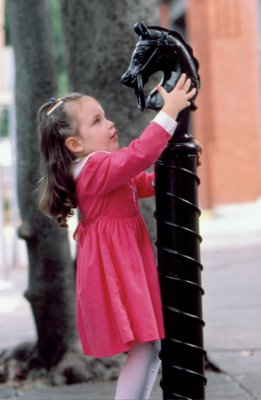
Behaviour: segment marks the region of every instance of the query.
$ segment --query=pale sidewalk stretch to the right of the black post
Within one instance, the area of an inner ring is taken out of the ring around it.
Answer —
[[[205,348],[227,382],[207,398],[261,399],[261,203],[217,209],[201,234]]]

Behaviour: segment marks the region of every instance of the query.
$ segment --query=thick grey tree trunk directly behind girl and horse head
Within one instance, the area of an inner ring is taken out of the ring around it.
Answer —
[[[157,0],[60,0],[70,89],[97,98],[120,133],[121,145],[137,137],[154,117],[141,113],[134,91],[121,84],[138,39],[133,25],[158,24]],[[154,201],[142,202],[151,236]]]

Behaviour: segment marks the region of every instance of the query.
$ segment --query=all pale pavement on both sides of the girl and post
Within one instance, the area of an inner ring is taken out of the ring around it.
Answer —
[[[220,372],[206,371],[206,399],[261,400],[261,202],[203,212],[201,257],[205,350]],[[19,243],[21,247],[21,243]],[[0,268],[0,350],[36,337],[23,298],[27,271]],[[6,257],[8,258],[8,257]],[[151,400],[161,399],[160,374]],[[112,400],[116,382],[39,386],[0,385],[2,400]]]

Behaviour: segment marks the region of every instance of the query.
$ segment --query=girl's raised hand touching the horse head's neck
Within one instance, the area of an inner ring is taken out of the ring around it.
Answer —
[[[195,96],[196,89],[191,89],[191,79],[187,79],[186,74],[182,74],[174,89],[167,93],[166,90],[158,85],[157,90],[164,100],[164,106],[161,111],[164,111],[173,119],[176,119],[180,111],[190,106],[190,100]]]

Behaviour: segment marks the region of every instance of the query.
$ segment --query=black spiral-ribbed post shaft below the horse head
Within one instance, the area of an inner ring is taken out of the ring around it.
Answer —
[[[157,253],[166,338],[163,399],[205,399],[197,145],[189,110],[155,164]]]

